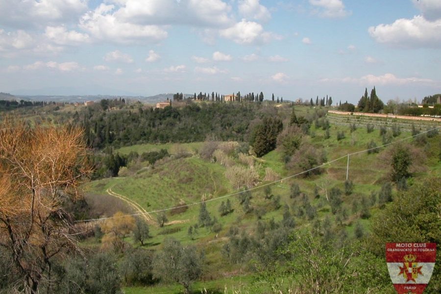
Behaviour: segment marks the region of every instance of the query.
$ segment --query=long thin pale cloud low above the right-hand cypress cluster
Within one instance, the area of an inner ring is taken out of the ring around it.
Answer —
[[[360,85],[408,85],[408,84],[433,84],[434,80],[420,77],[397,77],[392,73],[383,75],[367,74],[360,78],[344,77],[344,78],[323,78],[321,82],[337,82],[337,83],[357,83]]]

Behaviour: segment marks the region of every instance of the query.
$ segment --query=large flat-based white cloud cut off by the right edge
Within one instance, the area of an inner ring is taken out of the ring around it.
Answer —
[[[397,47],[441,47],[441,19],[428,21],[423,16],[398,19],[391,25],[371,26],[370,36],[378,43]]]

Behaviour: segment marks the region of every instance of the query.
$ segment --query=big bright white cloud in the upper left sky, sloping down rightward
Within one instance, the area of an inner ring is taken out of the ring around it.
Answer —
[[[80,28],[98,40],[130,44],[158,42],[167,38],[167,31],[158,25],[137,25],[118,19],[111,12],[114,5],[100,4],[80,20]]]

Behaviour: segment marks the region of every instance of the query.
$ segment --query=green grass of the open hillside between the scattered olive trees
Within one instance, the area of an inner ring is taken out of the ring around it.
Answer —
[[[298,114],[307,116],[313,109],[309,107],[300,108]],[[353,191],[345,195],[344,181],[346,179],[347,157],[348,153],[358,152],[368,148],[368,143],[373,141],[377,146],[384,143],[380,136],[379,126],[386,126],[392,142],[406,139],[411,136],[411,122],[399,122],[400,134],[392,136],[392,125],[395,121],[378,121],[372,132],[368,132],[366,124],[362,119],[352,118],[342,120],[335,115],[327,116],[331,121],[329,129],[329,138],[326,139],[326,130],[312,124],[310,135],[305,136],[304,140],[312,144],[326,154],[326,162],[341,158],[338,161],[326,164],[321,168],[321,173],[310,177],[295,176],[297,171],[287,168],[283,150],[279,147],[271,151],[260,159],[255,159],[255,171],[259,175],[259,183],[251,191],[252,211],[246,212],[243,205],[239,202],[240,196],[229,196],[216,199],[217,197],[227,196],[238,190],[233,189],[232,183],[226,177],[225,172],[228,167],[212,160],[202,159],[199,154],[204,147],[204,143],[190,144],[162,144],[162,145],[136,145],[123,147],[116,151],[128,154],[130,151],[138,153],[148,152],[166,148],[172,154],[167,160],[160,161],[154,167],[142,168],[135,174],[121,178],[108,178],[94,181],[89,184],[91,194],[106,194],[106,190],[111,188],[113,192],[126,196],[141,205],[147,211],[168,209],[179,204],[190,204],[187,209],[181,211],[167,210],[168,222],[164,227],[156,224],[150,224],[150,235],[146,248],[161,248],[161,244],[167,237],[179,240],[183,244],[194,244],[200,250],[204,251],[206,266],[201,280],[197,282],[194,289],[200,292],[204,287],[212,292],[223,293],[223,286],[238,285],[238,278],[219,278],[236,276],[238,273],[251,273],[252,267],[249,264],[234,264],[225,259],[223,247],[231,238],[231,228],[238,228],[246,232],[249,236],[255,236],[258,230],[259,219],[261,222],[269,223],[271,220],[279,222],[283,220],[283,214],[288,209],[294,217],[296,228],[313,229],[316,223],[330,221],[333,229],[343,228],[347,238],[356,239],[356,226],[361,225],[366,234],[370,230],[370,219],[372,217],[361,218],[360,203],[370,199],[372,194],[376,194],[374,202],[369,205],[370,215],[374,216],[380,212],[378,205],[378,193],[381,186],[390,181],[391,166],[387,162],[391,147],[382,147],[378,153],[368,154],[362,152],[349,157],[348,179],[353,182]],[[355,123],[355,129],[351,124]],[[428,125],[418,126],[424,131]],[[344,132],[345,138],[337,139],[337,133]],[[389,142],[389,141],[388,141]],[[441,176],[441,163],[439,154],[441,154],[440,137],[427,138],[426,143],[415,143],[415,139],[404,140],[405,143],[412,144],[420,153],[422,162],[417,162],[413,170],[413,177],[408,180],[408,185],[413,185],[420,178],[427,176]],[[392,144],[394,146],[394,144]],[[180,157],[178,154],[187,153],[188,157]],[[237,153],[228,155],[235,166],[242,166]],[[278,178],[290,177],[288,179],[272,183],[265,181],[265,169],[270,168],[276,172]],[[266,184],[271,183],[271,198],[266,197]],[[290,197],[291,186],[297,184],[302,193],[301,196]],[[262,186],[261,188],[259,188]],[[396,186],[392,186],[392,193],[396,193]],[[342,221],[340,213],[331,213],[332,207],[326,195],[330,194],[332,188],[339,188],[342,193],[342,208],[345,211],[346,218]],[[318,196],[315,195],[318,192]],[[279,205],[275,199],[280,197]],[[303,197],[303,198],[302,198]],[[233,212],[226,216],[221,216],[219,207],[221,201],[229,198],[232,203]],[[207,209],[212,218],[216,218],[220,224],[219,231],[213,231],[207,227],[199,227],[192,237],[188,235],[190,226],[198,222],[199,204],[192,205],[204,200],[215,199],[206,202]],[[312,217],[306,215],[305,201],[314,208],[315,213]],[[354,204],[355,203],[355,204]],[[156,214],[152,214],[156,218]],[[336,225],[340,223],[341,225]],[[334,225],[335,224],[335,225]],[[130,238],[130,243],[135,244]],[[245,284],[251,283],[250,278],[245,278]],[[126,288],[126,293],[179,293],[180,288],[176,285],[164,285],[148,288]],[[197,293],[199,293],[197,292]]]

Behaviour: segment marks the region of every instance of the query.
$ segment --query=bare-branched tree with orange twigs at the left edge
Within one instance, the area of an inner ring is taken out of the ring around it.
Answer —
[[[80,197],[89,172],[81,129],[0,123],[0,247],[12,261],[11,291],[50,292],[53,260],[78,248],[62,202]]]

